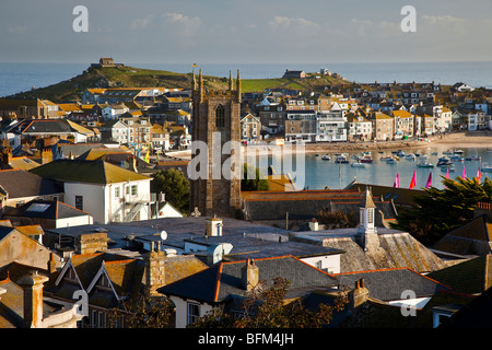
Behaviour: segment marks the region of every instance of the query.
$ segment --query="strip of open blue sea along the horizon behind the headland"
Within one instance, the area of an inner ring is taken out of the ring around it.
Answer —
[[[27,63],[0,62],[0,97],[45,88],[81,74],[91,63]],[[168,70],[177,73],[192,71],[191,63],[139,63],[126,66]],[[371,63],[200,63],[207,75],[229,77],[241,71],[242,79],[281,78],[286,69],[318,72],[327,69],[359,83],[465,82],[473,88],[492,89],[492,61],[457,62],[371,62]]]

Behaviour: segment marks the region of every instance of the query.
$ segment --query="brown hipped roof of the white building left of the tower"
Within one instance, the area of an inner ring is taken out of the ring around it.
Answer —
[[[60,182],[115,184],[151,179],[104,161],[57,160],[31,170],[44,178]]]

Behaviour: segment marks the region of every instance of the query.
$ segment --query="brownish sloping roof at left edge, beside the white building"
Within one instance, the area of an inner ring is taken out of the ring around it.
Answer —
[[[9,198],[46,196],[63,192],[63,186],[24,170],[0,171],[0,186]]]

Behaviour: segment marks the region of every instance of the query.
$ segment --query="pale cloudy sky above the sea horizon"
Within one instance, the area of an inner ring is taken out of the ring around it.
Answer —
[[[0,1],[0,62],[492,61],[490,33],[490,0]]]

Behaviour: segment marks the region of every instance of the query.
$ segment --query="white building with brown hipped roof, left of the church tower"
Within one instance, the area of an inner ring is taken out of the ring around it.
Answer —
[[[151,219],[151,177],[104,161],[58,160],[33,173],[63,183],[65,202],[89,212],[94,223]]]

